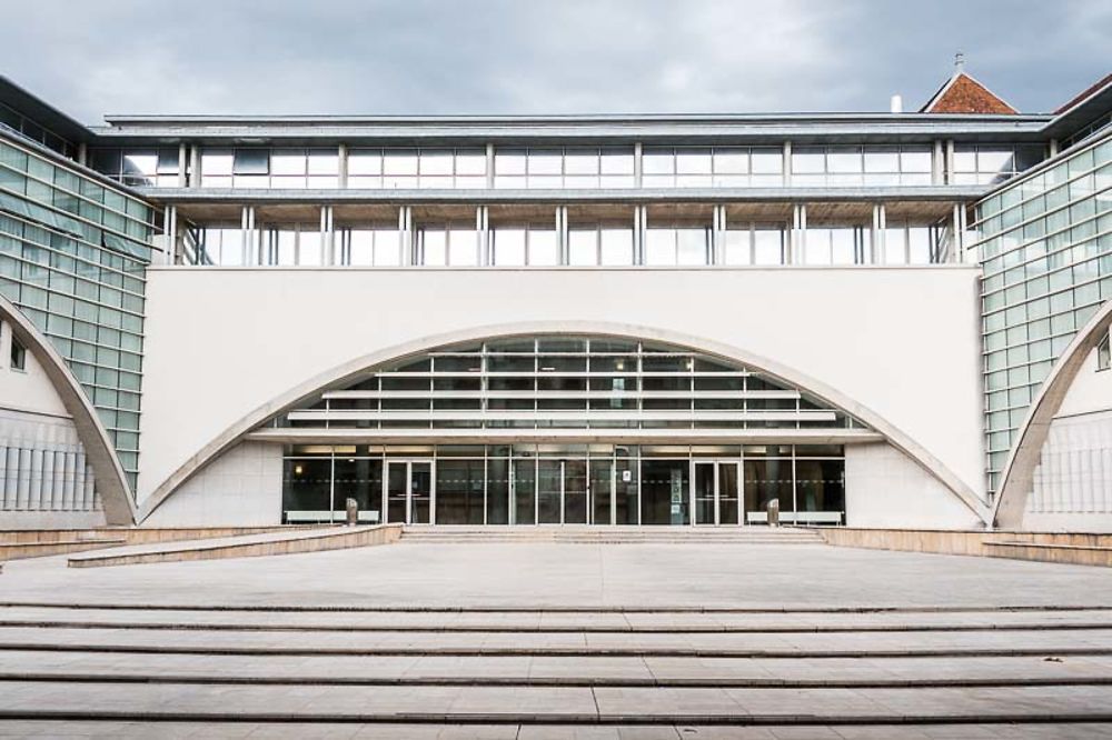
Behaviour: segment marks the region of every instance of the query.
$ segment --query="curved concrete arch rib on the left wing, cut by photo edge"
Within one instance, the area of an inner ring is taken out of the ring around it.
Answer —
[[[42,366],[66,411],[72,418],[78,439],[85,447],[86,460],[97,480],[97,490],[105,508],[105,520],[116,527],[133,526],[136,506],[123,468],[116,457],[116,449],[108,437],[108,430],[101,423],[81,384],[66,364],[66,360],[22,311],[3,296],[0,296],[0,320],[12,328],[14,337]]]

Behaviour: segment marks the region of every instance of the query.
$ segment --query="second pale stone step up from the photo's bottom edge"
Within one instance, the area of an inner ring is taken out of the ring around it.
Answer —
[[[964,688],[590,688],[9,681],[0,719],[797,726],[1109,722],[1112,686]],[[120,694],[125,696],[120,696]],[[43,699],[64,698],[63,701]]]

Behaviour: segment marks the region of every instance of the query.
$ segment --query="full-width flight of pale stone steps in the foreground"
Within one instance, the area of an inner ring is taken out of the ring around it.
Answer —
[[[1112,609],[59,599],[0,604],[0,734],[1112,733]]]

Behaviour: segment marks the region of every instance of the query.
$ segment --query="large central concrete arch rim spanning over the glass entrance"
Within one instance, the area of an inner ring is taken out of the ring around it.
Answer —
[[[722,360],[737,362],[772,376],[791,386],[805,390],[822,401],[845,411],[875,432],[884,437],[888,443],[914,460],[927,473],[956,497],[981,521],[989,521],[989,509],[976,493],[965,484],[941,460],[924,449],[919,442],[904,433],[883,417],[862,406],[845,393],[826,383],[784,366],[768,358],[759,357],[738,347],[724,344],[694,334],[656,329],[636,324],[625,324],[604,321],[529,321],[481,326],[448,333],[423,337],[410,342],[397,344],[383,350],[355,358],[348,362],[322,372],[291,388],[281,396],[259,406],[254,411],[228,427],[214,438],[196,454],[175,470],[140,507],[140,521],[147,519],[187,480],[212,462],[220,454],[231,449],[248,433],[265,424],[270,419],[307,401],[317,393],[330,388],[342,387],[354,382],[361,373],[376,366],[403,360],[414,354],[428,352],[437,347],[457,342],[484,341],[496,338],[522,337],[529,334],[597,334],[636,339],[643,341],[659,341],[685,347],[705,354],[715,356]]]

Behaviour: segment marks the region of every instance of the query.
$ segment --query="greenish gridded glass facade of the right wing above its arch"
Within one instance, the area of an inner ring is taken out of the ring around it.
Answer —
[[[1021,178],[979,207],[973,246],[983,270],[987,486],[994,491],[1019,426],[1053,362],[1110,298],[1110,187],[1091,187],[1094,170],[1112,162],[1112,137],[1096,138],[1046,172]],[[996,182],[1030,167],[1030,148],[962,148],[955,171]],[[1073,187],[1078,186],[1078,187]],[[1054,193],[1061,193],[1056,196]]]

